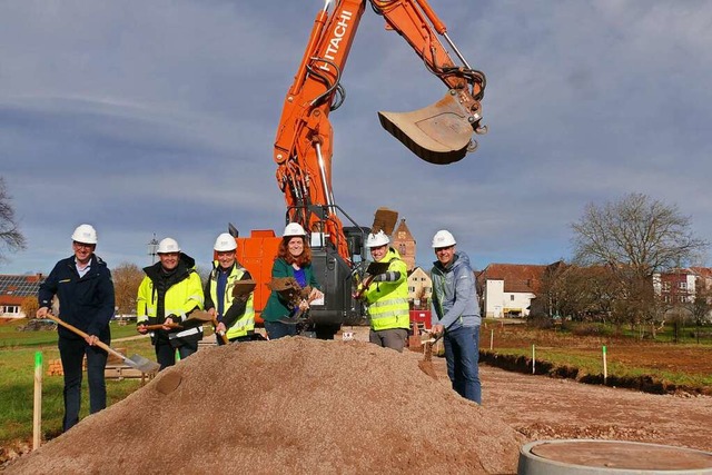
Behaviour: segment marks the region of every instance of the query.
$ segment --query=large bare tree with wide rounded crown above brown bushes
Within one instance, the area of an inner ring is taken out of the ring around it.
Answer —
[[[626,266],[640,277],[684,264],[709,243],[692,235],[691,218],[642,194],[603,207],[589,204],[574,230],[574,260]]]

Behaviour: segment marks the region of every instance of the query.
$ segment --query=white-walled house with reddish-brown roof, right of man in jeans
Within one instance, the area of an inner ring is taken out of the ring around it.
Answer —
[[[476,273],[482,315],[486,318],[526,317],[548,266],[490,264]]]

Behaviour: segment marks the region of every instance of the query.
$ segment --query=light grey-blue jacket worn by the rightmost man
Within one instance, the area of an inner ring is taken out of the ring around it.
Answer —
[[[475,275],[469,267],[469,257],[455,251],[447,268],[439,261],[431,270],[433,297],[431,319],[433,325],[443,325],[446,331],[461,327],[475,327],[482,323],[479,304],[475,290]]]

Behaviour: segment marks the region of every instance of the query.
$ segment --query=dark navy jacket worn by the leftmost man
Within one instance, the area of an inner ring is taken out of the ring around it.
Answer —
[[[59,298],[59,317],[102,342],[110,339],[109,320],[113,316],[113,281],[106,263],[91,255],[91,268],[79,278],[75,256],[62,259],[40,285],[40,307],[52,307],[52,297]],[[78,339],[79,335],[58,326],[60,338]]]

